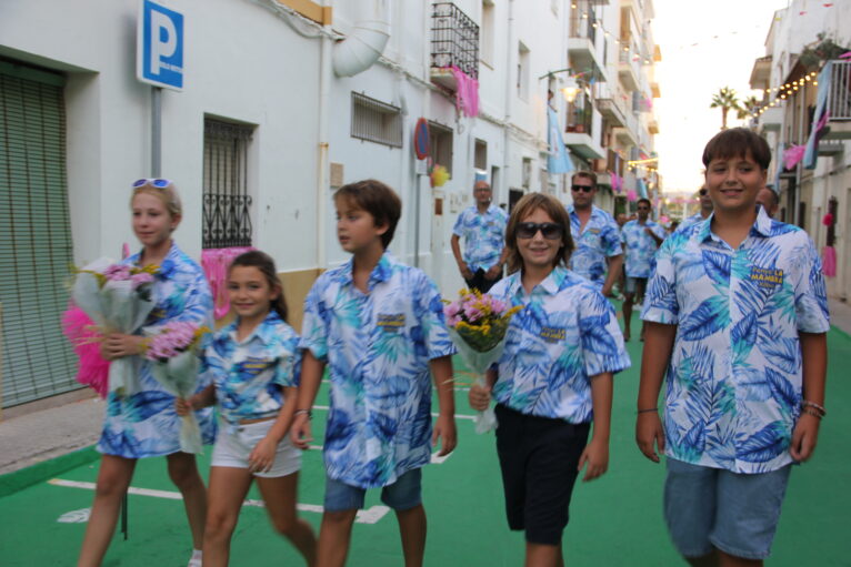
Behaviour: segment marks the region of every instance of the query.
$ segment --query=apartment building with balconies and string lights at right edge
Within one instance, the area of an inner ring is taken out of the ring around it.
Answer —
[[[772,16],[751,88],[763,91],[752,128],[772,148],[769,182],[778,219],[807,230],[822,254],[828,293],[851,294],[851,4],[809,9],[794,0]]]

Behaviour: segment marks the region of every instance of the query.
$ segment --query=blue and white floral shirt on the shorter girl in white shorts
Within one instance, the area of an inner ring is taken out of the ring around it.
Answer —
[[[299,335],[271,311],[243,341],[238,322],[216,333],[204,351],[204,369],[216,385],[219,413],[230,424],[278,415],[283,387],[298,386]]]

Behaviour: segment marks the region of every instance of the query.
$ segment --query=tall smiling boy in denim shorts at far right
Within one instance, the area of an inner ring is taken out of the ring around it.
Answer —
[[[668,456],[665,520],[692,565],[762,565],[825,414],[824,279],[807,233],[757,206],[770,161],[748,129],[710,140],[714,213],[664,241],[644,300],[635,439]]]

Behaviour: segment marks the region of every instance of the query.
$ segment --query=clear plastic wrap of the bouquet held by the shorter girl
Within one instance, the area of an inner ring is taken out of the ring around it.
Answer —
[[[200,360],[194,350],[184,351],[170,358],[152,361],[151,375],[169,394],[188,398],[198,387],[198,368]],[[201,453],[201,428],[194,412],[181,417],[180,450],[183,453]]]

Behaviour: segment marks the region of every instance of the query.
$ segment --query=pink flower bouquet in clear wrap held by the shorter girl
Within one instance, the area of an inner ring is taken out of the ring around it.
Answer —
[[[210,330],[194,323],[176,321],[151,328],[156,334],[146,340],[146,358],[151,361],[151,375],[170,394],[188,398],[198,388],[201,338]],[[201,428],[194,413],[182,417],[180,450],[201,453]]]

